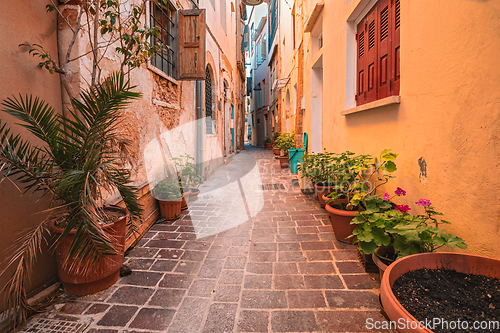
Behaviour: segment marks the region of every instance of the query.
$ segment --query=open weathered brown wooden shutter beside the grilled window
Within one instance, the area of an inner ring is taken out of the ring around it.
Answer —
[[[179,11],[179,80],[205,79],[205,9]]]

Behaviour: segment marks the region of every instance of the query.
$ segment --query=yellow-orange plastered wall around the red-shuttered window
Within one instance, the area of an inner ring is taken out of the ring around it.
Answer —
[[[315,1],[308,2],[308,13]],[[500,2],[401,0],[401,104],[342,116],[350,103],[346,20],[359,3],[326,1],[322,125],[311,125],[311,40],[305,35],[305,131],[328,151],[400,154],[386,190],[430,199],[470,253],[500,258]],[[352,87],[351,87],[352,88]],[[346,97],[347,96],[347,97]],[[428,179],[419,179],[418,160]]]

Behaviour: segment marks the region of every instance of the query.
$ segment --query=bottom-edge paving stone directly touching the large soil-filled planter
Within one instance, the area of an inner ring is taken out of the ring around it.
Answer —
[[[326,332],[374,332],[367,328],[368,318],[373,321],[387,320],[379,311],[318,311],[316,316],[321,330]]]

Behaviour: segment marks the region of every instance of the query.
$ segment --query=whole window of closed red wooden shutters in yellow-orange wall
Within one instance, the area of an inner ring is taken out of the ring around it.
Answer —
[[[357,24],[357,105],[399,95],[399,6],[379,0]]]

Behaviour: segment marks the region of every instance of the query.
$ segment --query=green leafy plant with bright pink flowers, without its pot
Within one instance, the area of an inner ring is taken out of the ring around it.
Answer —
[[[405,196],[406,192],[398,187],[395,195]],[[450,223],[437,218],[443,214],[434,210],[427,199],[415,202],[424,208],[424,213],[418,215],[409,214],[411,208],[408,205],[392,203],[387,193],[383,197],[368,196],[364,202],[366,210],[358,212],[351,221],[351,224],[358,225],[353,235],[357,237],[355,242],[362,253],[371,254],[377,247],[393,246],[395,257],[401,258],[435,252],[442,246],[467,247],[463,239],[440,228],[441,224]]]

